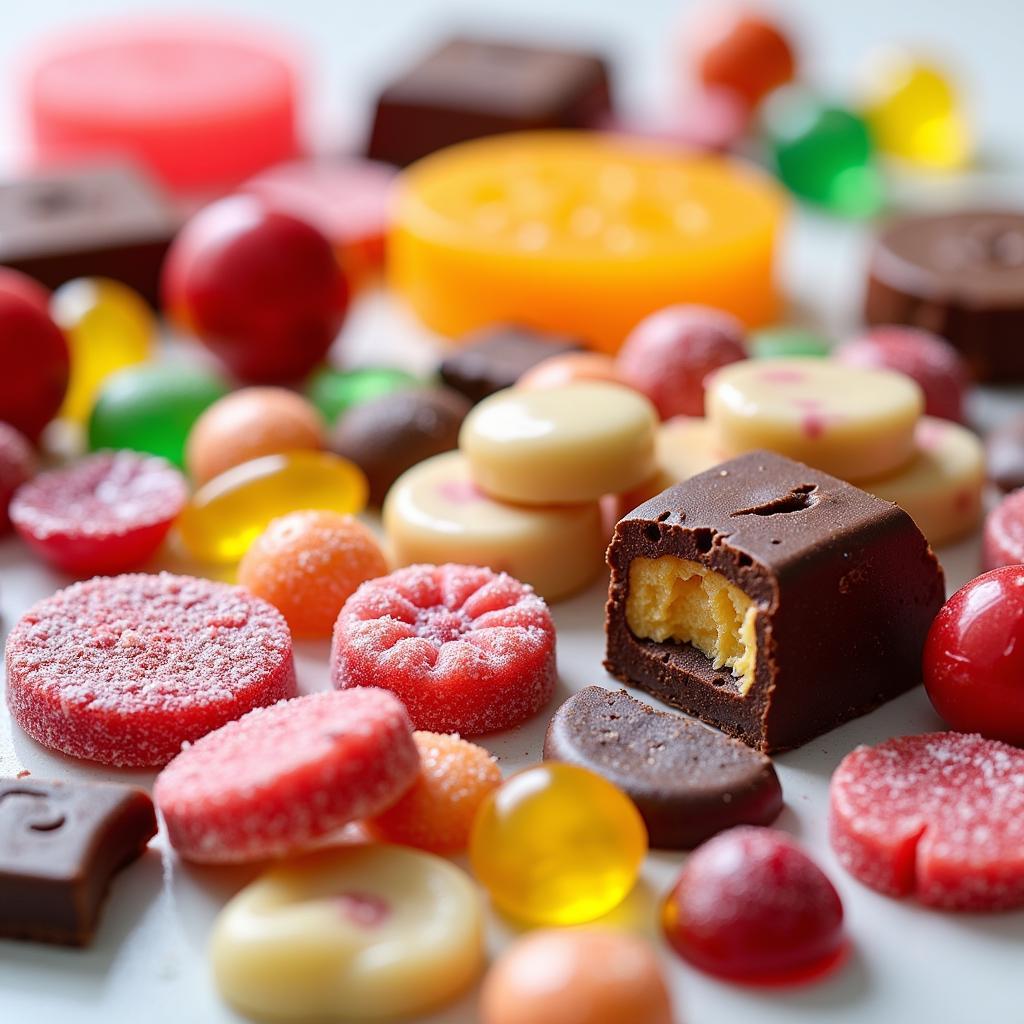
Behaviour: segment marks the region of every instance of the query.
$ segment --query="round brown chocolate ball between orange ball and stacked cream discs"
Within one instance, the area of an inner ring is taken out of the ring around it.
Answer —
[[[345,413],[331,434],[331,449],[367,474],[370,502],[381,505],[407,469],[459,446],[469,410],[469,401],[446,387],[394,391]]]

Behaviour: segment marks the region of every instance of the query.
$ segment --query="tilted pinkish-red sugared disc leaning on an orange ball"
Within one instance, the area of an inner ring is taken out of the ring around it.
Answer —
[[[384,810],[419,766],[406,709],[386,690],[312,693],[186,746],[154,798],[182,857],[239,863],[296,853]]]

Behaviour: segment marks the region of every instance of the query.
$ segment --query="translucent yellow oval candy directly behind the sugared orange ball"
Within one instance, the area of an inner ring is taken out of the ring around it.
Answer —
[[[272,519],[302,509],[354,515],[367,507],[367,478],[327,452],[291,452],[244,462],[204,483],[178,520],[200,561],[237,562]]]

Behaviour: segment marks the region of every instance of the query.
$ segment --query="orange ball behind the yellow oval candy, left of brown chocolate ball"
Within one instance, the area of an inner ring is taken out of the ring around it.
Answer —
[[[324,447],[324,421],[301,395],[283,387],[247,387],[224,395],[196,421],[185,467],[197,484],[265,455]]]

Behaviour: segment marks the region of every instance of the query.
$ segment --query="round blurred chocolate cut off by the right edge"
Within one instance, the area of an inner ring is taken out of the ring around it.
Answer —
[[[1024,212],[890,224],[871,256],[864,316],[947,338],[978,380],[1024,381]]]

